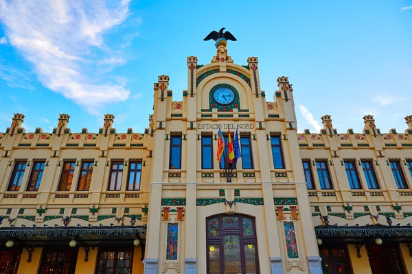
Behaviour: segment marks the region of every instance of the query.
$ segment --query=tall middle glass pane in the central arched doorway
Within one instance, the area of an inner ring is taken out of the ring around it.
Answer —
[[[223,236],[223,253],[225,262],[225,274],[242,273],[239,236]]]

